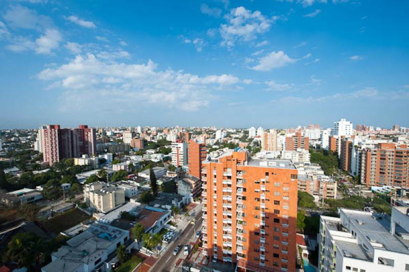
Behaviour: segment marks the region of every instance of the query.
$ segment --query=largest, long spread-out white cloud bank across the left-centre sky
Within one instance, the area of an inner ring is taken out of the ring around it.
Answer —
[[[86,105],[105,103],[112,99],[121,108],[137,104],[163,105],[180,110],[198,110],[214,98],[212,90],[241,83],[228,74],[199,77],[167,69],[157,64],[125,64],[106,61],[93,54],[78,55],[66,64],[44,69],[38,78],[51,81],[50,86],[62,88],[61,110],[81,110]]]

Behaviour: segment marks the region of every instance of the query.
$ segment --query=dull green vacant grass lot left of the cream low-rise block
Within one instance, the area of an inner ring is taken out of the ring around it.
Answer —
[[[90,218],[86,213],[72,209],[42,222],[42,227],[50,233],[60,233]]]

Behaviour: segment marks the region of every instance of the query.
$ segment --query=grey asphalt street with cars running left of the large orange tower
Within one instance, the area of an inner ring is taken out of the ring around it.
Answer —
[[[186,258],[186,256],[183,255],[183,247],[186,244],[189,244],[192,237],[196,237],[196,234],[194,232],[195,230],[197,231],[199,229],[199,226],[201,225],[201,222],[203,221],[203,219],[201,218],[201,215],[202,215],[202,211],[200,211],[195,216],[196,223],[194,225],[189,224],[186,227],[186,229],[180,234],[180,236],[170,246],[168,246],[166,252],[161,255],[161,257],[156,261],[155,265],[151,267],[150,271],[170,272],[173,270],[174,268],[173,265],[177,259]],[[182,248],[179,251],[179,253],[176,256],[174,256],[173,250],[178,244],[181,244]],[[190,250],[191,249],[192,248],[190,248]]]

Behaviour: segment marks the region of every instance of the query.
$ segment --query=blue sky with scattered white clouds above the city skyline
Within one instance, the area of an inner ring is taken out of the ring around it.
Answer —
[[[0,3],[0,128],[409,126],[407,1]]]

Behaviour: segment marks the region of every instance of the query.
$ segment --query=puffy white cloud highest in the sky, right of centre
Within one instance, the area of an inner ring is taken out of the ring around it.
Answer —
[[[222,46],[233,47],[237,41],[249,41],[257,35],[267,32],[274,22],[267,18],[260,11],[247,10],[244,7],[232,9],[224,16],[227,24],[220,25]]]

